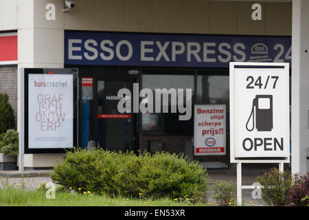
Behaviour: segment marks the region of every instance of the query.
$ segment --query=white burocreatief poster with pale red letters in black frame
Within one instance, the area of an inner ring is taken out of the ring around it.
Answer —
[[[29,148],[73,146],[73,75],[29,74]]]

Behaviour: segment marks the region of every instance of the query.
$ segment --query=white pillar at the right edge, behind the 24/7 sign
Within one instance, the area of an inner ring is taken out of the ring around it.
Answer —
[[[309,147],[309,1],[293,0],[292,173],[305,174]]]

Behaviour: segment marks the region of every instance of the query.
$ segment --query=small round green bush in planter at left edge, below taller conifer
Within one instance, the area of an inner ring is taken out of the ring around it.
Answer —
[[[0,138],[1,153],[8,156],[19,154],[19,133],[14,129],[8,129]]]

